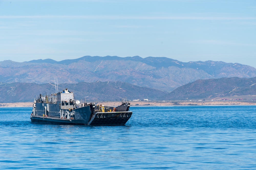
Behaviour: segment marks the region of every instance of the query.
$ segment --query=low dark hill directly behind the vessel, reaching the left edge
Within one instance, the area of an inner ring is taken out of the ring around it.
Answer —
[[[59,91],[68,88],[74,92],[77,100],[87,98],[87,101],[121,101],[127,97],[127,100],[149,99],[163,100],[167,93],[151,88],[139,87],[124,82],[94,82],[77,84],[59,84]],[[0,102],[31,102],[36,95],[48,95],[55,93],[53,83],[1,83],[0,84]]]

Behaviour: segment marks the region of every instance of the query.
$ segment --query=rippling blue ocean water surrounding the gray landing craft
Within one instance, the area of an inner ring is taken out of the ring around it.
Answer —
[[[131,107],[125,126],[0,108],[0,169],[256,169],[255,106]]]

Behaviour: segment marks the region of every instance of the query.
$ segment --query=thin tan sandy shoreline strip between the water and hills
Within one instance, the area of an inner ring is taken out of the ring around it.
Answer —
[[[256,105],[253,102],[246,101],[129,101],[131,107],[145,106],[224,106],[224,105]],[[89,102],[88,102],[89,103]],[[119,106],[120,101],[98,102],[104,106]],[[0,107],[32,107],[33,102],[15,102],[15,103],[0,103]]]

